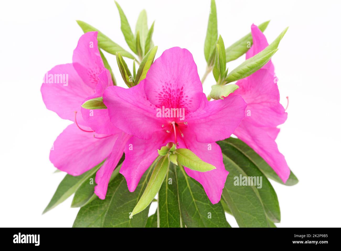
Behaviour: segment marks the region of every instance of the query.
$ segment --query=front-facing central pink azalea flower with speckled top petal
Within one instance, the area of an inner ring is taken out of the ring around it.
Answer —
[[[110,86],[103,94],[110,121],[134,135],[125,147],[120,173],[133,192],[143,173],[168,142],[188,148],[217,169],[187,174],[200,182],[213,204],[218,203],[228,172],[217,140],[228,138],[244,117],[246,103],[239,95],[209,102],[203,93],[192,54],[179,47],[163,52],[146,79],[129,89]],[[157,116],[158,108],[178,108],[182,117]]]

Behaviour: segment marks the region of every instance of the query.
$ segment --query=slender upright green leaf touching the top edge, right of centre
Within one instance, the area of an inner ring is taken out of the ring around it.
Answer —
[[[216,49],[217,38],[218,38],[218,24],[217,24],[217,9],[216,2],[211,0],[211,9],[208,18],[207,32],[204,45],[205,59],[208,65],[211,64],[210,58]]]

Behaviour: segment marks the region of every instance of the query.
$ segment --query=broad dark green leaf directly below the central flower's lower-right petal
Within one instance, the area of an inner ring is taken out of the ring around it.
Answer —
[[[176,174],[183,226],[230,227],[221,204],[213,205],[199,182],[188,177],[182,166],[176,168]]]

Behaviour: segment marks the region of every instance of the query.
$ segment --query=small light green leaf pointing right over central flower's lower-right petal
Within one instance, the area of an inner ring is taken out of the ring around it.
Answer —
[[[180,165],[199,172],[207,172],[216,169],[215,166],[202,161],[191,150],[186,148],[178,148],[175,151],[177,161]]]

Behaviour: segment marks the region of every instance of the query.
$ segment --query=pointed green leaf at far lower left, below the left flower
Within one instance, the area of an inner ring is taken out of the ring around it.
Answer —
[[[83,182],[88,181],[88,179],[97,172],[103,163],[104,161],[80,176],[72,176],[67,174],[58,185],[55,194],[45,208],[43,214],[69,198]]]

